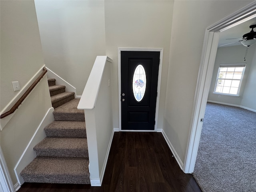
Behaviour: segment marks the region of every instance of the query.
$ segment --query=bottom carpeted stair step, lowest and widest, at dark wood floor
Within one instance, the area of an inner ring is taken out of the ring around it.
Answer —
[[[90,184],[87,158],[37,157],[20,173],[24,182]]]

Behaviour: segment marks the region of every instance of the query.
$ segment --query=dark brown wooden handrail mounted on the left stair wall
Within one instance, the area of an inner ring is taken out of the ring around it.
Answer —
[[[30,94],[30,92],[34,89],[34,87],[38,84],[38,82],[40,82],[40,80],[44,77],[44,75],[46,74],[47,69],[44,67],[43,68],[43,72],[40,74],[40,76],[38,78],[36,78],[36,80],[32,83],[32,85],[28,88],[28,90],[26,90],[26,92],[20,97],[20,99],[14,104],[14,106],[12,106],[12,108],[1,114],[0,115],[0,119],[14,113],[14,111],[16,109],[18,109],[18,107],[20,106],[20,104],[22,104],[22,102],[24,101],[24,99]]]

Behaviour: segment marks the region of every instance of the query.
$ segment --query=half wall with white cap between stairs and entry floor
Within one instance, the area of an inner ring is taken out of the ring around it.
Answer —
[[[112,121],[111,63],[97,56],[78,109],[84,110],[89,154],[90,182],[101,186],[114,135]]]

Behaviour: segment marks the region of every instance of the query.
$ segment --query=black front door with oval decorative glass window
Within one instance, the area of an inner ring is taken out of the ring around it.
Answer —
[[[160,52],[121,51],[122,130],[154,130]]]

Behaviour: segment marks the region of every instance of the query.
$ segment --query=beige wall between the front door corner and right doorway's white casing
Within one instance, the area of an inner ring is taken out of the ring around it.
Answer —
[[[184,162],[205,29],[251,1],[174,1],[164,132]]]

